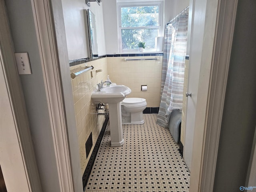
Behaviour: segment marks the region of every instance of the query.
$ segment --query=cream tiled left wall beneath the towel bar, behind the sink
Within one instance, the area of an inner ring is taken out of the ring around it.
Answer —
[[[88,160],[102,128],[102,124],[105,120],[105,116],[92,114],[96,113],[97,111],[96,105],[91,100],[91,94],[92,91],[96,88],[97,83],[99,83],[101,80],[106,80],[108,71],[107,58],[102,58],[84,64],[72,66],[70,67],[70,72],[79,72],[80,70],[84,69],[85,64],[87,66],[94,66],[94,69],[84,72],[76,76],[76,78],[71,79],[82,174],[84,173],[84,170],[87,166]],[[102,72],[96,72],[98,69],[102,69]],[[91,72],[93,77],[91,77]],[[99,110],[98,112],[103,111]],[[91,132],[93,146],[88,158],[86,158],[85,143]]]

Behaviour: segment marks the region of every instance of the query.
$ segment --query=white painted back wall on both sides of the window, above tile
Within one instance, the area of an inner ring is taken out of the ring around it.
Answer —
[[[118,2],[128,2],[129,0],[118,0]],[[134,0],[130,0],[131,2]],[[141,0],[143,1],[143,0]],[[106,54],[118,53],[118,24],[117,24],[117,0],[102,1],[104,14],[104,28],[106,40]],[[164,27],[168,21],[179,14],[187,6],[189,0],[165,0],[164,1]]]

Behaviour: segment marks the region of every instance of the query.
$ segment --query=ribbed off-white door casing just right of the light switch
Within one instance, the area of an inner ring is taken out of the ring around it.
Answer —
[[[74,181],[51,3],[50,0],[31,0],[31,3],[48,98],[60,190],[73,192]]]

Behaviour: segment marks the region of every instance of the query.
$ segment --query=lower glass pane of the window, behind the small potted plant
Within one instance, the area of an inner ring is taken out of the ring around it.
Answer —
[[[155,48],[155,38],[158,36],[157,29],[122,29],[122,49],[138,49],[140,41],[145,42],[146,49]]]

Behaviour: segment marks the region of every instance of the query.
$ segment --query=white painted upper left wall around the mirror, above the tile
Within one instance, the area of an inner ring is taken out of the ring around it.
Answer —
[[[68,46],[68,59],[74,60],[88,57],[84,9],[90,9],[96,17],[98,54],[105,55],[102,3],[99,6],[98,3],[91,2],[89,7],[85,4],[84,0],[62,0],[62,8]]]

